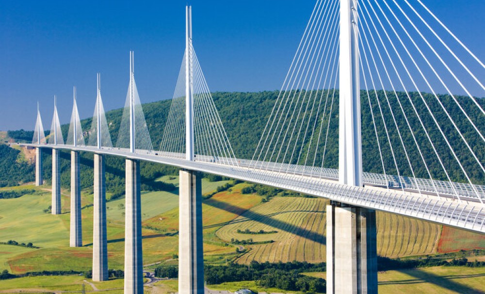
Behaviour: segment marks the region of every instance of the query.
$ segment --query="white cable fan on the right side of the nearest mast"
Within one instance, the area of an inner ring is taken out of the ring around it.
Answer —
[[[484,101],[470,93],[484,94],[485,66],[421,0],[359,3],[362,119],[373,129],[363,154],[378,150],[369,171],[397,175],[401,189],[402,176],[432,179],[438,196],[459,197],[455,182],[468,183],[483,202],[472,183],[484,183]]]

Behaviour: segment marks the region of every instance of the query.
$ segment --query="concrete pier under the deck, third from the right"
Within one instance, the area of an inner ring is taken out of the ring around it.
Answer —
[[[126,160],[125,294],[143,293],[142,203],[140,162]]]

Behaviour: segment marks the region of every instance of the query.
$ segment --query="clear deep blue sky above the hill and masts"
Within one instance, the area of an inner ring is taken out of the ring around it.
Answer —
[[[423,0],[485,60],[484,0]],[[129,50],[142,103],[171,98],[185,46],[184,0],[0,1],[0,130],[50,127],[54,94],[69,121],[124,105]],[[191,0],[194,48],[212,91],[279,89],[315,0]],[[479,77],[480,78],[480,77]]]

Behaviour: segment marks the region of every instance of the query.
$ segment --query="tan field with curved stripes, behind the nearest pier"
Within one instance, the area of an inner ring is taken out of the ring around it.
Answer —
[[[237,262],[325,261],[325,206],[322,198],[275,197],[256,206],[219,229],[216,234],[231,239],[268,244],[247,245],[248,252]],[[244,231],[277,231],[271,234],[244,234]],[[436,253],[441,227],[416,219],[377,212],[377,250],[386,257]]]

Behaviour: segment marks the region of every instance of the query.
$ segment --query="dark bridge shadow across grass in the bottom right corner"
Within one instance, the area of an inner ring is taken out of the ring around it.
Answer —
[[[485,277],[485,274],[438,276],[432,273],[420,271],[419,269],[402,270],[400,272],[406,275],[412,276],[414,277],[414,279],[379,282],[379,285],[407,285],[407,284],[431,283],[449,290],[453,290],[461,294],[472,294],[472,293],[485,294],[485,292],[483,291],[480,291],[478,289],[473,289],[468,287],[467,285],[459,284],[453,281],[454,279],[460,279],[460,278]]]

